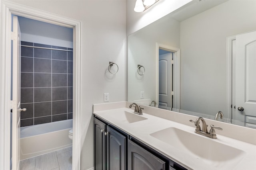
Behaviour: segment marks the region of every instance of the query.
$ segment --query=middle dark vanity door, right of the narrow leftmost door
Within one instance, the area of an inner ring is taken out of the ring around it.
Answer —
[[[107,126],[107,170],[125,170],[126,137]]]

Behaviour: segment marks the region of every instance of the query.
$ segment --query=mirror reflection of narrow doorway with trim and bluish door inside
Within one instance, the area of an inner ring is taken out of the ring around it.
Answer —
[[[158,107],[179,112],[180,49],[156,43],[156,71],[156,103]]]

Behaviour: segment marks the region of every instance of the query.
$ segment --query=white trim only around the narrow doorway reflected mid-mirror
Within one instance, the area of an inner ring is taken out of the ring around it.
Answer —
[[[174,64],[173,64],[173,108],[174,111],[180,109],[180,49],[161,43],[156,43],[156,102],[159,102],[159,48],[166,49],[173,52]]]

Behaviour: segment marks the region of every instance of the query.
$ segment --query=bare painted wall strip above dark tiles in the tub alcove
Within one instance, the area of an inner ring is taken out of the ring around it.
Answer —
[[[73,48],[73,29],[18,17],[21,41]]]

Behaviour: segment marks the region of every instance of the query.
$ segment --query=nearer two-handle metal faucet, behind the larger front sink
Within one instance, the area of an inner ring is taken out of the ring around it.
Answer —
[[[200,121],[202,121],[202,130],[200,127]],[[193,122],[196,126],[195,133],[197,133],[199,135],[206,136],[206,137],[210,137],[212,139],[217,139],[216,132],[215,132],[214,128],[218,129],[218,130],[222,130],[221,127],[215,127],[214,125],[211,125],[210,132],[208,132],[208,130],[207,130],[208,125],[206,125],[206,122],[205,122],[204,118],[202,118],[202,117],[198,117],[196,119],[196,121],[190,120],[190,122]]]

